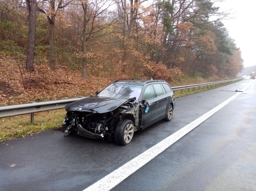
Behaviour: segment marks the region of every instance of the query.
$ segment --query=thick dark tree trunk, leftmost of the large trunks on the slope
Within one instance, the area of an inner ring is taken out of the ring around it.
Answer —
[[[26,69],[34,71],[34,56],[35,56],[35,37],[36,37],[36,0],[26,0],[28,9],[28,44],[27,44],[27,59]]]

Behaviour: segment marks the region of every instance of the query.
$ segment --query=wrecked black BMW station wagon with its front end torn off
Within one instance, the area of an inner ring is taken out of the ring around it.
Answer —
[[[175,107],[173,95],[164,80],[117,80],[96,96],[65,106],[64,134],[75,133],[127,145],[135,131],[163,119],[171,121]]]

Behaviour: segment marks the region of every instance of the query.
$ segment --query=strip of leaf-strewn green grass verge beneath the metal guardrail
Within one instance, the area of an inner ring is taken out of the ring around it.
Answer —
[[[198,83],[204,83],[202,79],[198,81]],[[196,84],[195,81],[194,84]],[[175,98],[207,91],[221,86],[224,85],[214,85],[212,87],[204,88],[201,87],[200,89],[199,87],[191,88],[190,90],[186,89],[183,91],[177,90],[175,91]],[[44,130],[61,128],[65,114],[66,111],[64,109],[35,113],[34,124],[31,124],[30,122],[30,115],[2,118],[0,121],[0,141],[5,141],[18,137],[25,138],[26,135],[32,135],[34,133]]]

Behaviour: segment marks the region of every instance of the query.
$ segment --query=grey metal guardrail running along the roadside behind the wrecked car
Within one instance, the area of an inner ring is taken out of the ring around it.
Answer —
[[[183,85],[178,87],[172,87],[173,91],[176,90],[184,90],[190,88],[197,88],[199,87],[211,87],[211,85],[221,85],[226,83],[231,83],[234,81],[240,81],[242,78],[234,79],[234,80],[225,80],[225,81],[217,81],[211,83],[204,83],[204,84],[194,84],[194,85]],[[33,103],[25,103],[25,104],[18,104],[18,105],[11,105],[11,106],[1,106],[0,107],[0,118],[3,117],[12,117],[17,115],[25,115],[31,114],[31,123],[34,124],[34,113],[42,112],[42,111],[50,111],[50,110],[57,110],[64,108],[67,104],[72,103],[74,101],[78,101],[79,99],[83,99],[84,97],[80,98],[71,98],[71,99],[61,99],[55,101],[46,101],[46,102],[33,102]]]

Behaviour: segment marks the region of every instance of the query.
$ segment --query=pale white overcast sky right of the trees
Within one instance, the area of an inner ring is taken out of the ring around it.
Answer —
[[[231,10],[233,19],[222,20],[229,31],[229,36],[235,40],[235,43],[242,52],[244,67],[256,65],[256,30],[255,0],[225,0],[222,3],[214,4],[221,10]]]

